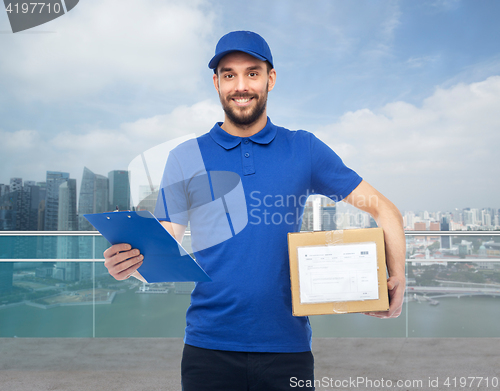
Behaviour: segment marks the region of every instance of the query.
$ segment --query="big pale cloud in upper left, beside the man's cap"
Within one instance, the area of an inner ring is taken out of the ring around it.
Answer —
[[[133,85],[194,91],[214,19],[205,0],[86,0],[38,28],[54,34],[2,37],[9,56],[0,84],[18,99],[42,101]]]

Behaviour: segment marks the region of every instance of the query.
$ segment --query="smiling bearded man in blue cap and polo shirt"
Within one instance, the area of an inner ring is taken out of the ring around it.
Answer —
[[[314,135],[272,124],[266,103],[276,71],[262,37],[246,31],[225,35],[209,67],[214,69],[213,82],[225,116],[223,123],[196,140],[200,159],[207,173],[238,174],[248,223],[238,233],[231,228],[228,240],[196,252],[212,281],[196,285],[186,314],[183,390],[293,389],[290,378],[314,378],[309,320],[294,317],[291,311],[287,233],[300,230],[304,206],[294,201],[309,194],[343,200],[370,213],[383,228],[390,309],[368,314],[379,318],[401,313],[405,288],[401,214]],[[178,163],[182,148],[172,151],[167,162],[166,174],[174,178],[184,170]],[[182,189],[173,193],[187,198],[180,210],[194,208],[198,190],[190,188],[192,181],[178,179]],[[155,214],[181,241],[186,214],[172,218],[169,205],[177,201],[167,199]],[[226,204],[225,208],[230,220],[230,208]],[[191,231],[195,229],[191,225]],[[197,229],[211,232],[208,225]],[[118,280],[137,275],[143,261],[127,244],[112,246],[104,255],[106,267]]]

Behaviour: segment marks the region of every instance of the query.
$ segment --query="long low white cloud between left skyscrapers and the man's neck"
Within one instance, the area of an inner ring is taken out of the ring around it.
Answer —
[[[168,114],[123,123],[117,129],[90,129],[51,136],[38,130],[0,130],[0,183],[11,177],[45,181],[46,171],[69,172],[78,183],[83,167],[97,174],[126,169],[141,152],[179,136],[209,131],[222,118],[218,101],[179,106]]]

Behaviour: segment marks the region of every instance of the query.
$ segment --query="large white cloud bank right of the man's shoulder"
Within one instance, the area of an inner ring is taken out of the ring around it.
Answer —
[[[492,76],[437,88],[421,107],[348,112],[315,133],[402,208],[499,207],[498,107],[500,76]]]

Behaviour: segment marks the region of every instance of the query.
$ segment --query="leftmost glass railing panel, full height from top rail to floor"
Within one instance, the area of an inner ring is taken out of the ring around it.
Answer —
[[[96,235],[0,235],[0,336],[93,337]],[[19,260],[16,262],[16,260]],[[89,260],[85,262],[85,260]]]

